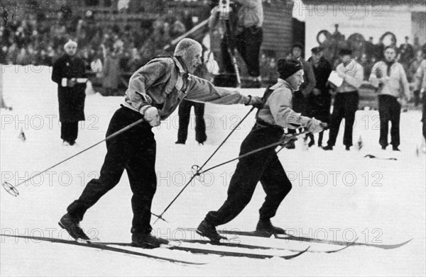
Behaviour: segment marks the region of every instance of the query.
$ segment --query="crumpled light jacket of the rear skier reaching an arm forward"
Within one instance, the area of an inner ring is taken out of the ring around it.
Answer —
[[[165,120],[182,99],[222,105],[249,103],[249,96],[213,86],[207,80],[187,74],[176,57],[158,57],[133,73],[123,106],[141,111],[146,106],[158,108]]]

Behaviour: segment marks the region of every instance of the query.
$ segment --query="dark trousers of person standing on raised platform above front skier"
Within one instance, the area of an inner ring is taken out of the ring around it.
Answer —
[[[221,43],[222,62],[224,64],[224,71],[235,73],[234,65],[232,64],[231,57],[228,53],[228,47],[233,46],[230,43],[228,35],[224,36]],[[259,54],[263,40],[263,30],[261,27],[251,26],[244,28],[244,30],[235,36],[234,42],[236,50],[246,63],[247,71],[250,77],[258,77],[261,75],[259,67]]]

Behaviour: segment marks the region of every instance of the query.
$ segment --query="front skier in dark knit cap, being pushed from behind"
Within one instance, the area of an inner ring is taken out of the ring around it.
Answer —
[[[283,128],[304,127],[310,132],[320,132],[326,127],[320,120],[302,116],[291,108],[293,91],[299,89],[303,82],[302,64],[295,59],[279,60],[278,73],[280,78],[277,83],[267,89],[263,96],[264,106],[259,108],[256,123],[241,144],[240,155],[279,142],[284,135]],[[281,201],[290,192],[291,183],[273,147],[239,159],[229,183],[228,198],[219,210],[207,213],[197,232],[213,242],[219,242],[223,237],[217,233],[216,227],[241,213],[249,204],[258,181],[266,192],[266,199],[259,210],[256,232],[283,234],[283,229],[272,225],[271,217],[275,216]]]

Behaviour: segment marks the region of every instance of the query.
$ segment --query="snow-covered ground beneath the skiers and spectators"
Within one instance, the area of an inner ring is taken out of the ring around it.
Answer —
[[[4,97],[13,111],[1,110],[1,181],[17,184],[38,171],[102,140],[121,97],[87,96],[86,118],[76,147],[62,147],[58,125],[56,86],[48,67],[4,68]],[[262,94],[263,90],[241,90]],[[190,179],[191,166],[202,165],[231,128],[249,111],[246,106],[206,106],[208,140],[195,142],[190,128],[186,145],[175,145],[178,115],[174,113],[155,128],[158,145],[156,171],[158,190],[153,213],[161,213]],[[377,244],[399,243],[403,247],[382,250],[349,247],[335,254],[305,253],[292,260],[229,258],[195,255],[183,251],[154,249],[149,254],[207,263],[182,266],[138,256],[86,247],[53,244],[32,239],[0,237],[1,276],[425,276],[425,154],[416,154],[422,143],[420,111],[401,115],[402,152],[382,151],[378,145],[377,111],[358,111],[354,142],[363,147],[344,150],[342,132],[332,152],[318,147],[283,149],[279,157],[293,190],[283,201],[275,225],[293,234]],[[207,164],[214,166],[236,157],[239,146],[253,125],[254,112]],[[18,139],[20,130],[26,141]],[[326,134],[327,138],[328,135]],[[352,147],[355,148],[355,147]],[[389,147],[390,148],[390,147]],[[0,190],[1,234],[68,239],[58,227],[67,205],[80,196],[84,185],[99,174],[104,143],[84,152],[28,183],[18,186],[17,198]],[[368,159],[373,154],[388,159]],[[177,227],[197,227],[209,210],[226,198],[236,162],[210,171],[205,182],[194,181],[165,213],[170,223],[153,225],[159,236],[181,238]],[[253,230],[265,194],[258,186],[251,203],[224,225],[225,229]],[[129,242],[131,190],[126,174],[112,191],[91,208],[82,227],[104,242]],[[153,220],[155,218],[153,217]],[[190,238],[190,237],[187,237]],[[241,239],[241,238],[240,238]],[[287,249],[333,249],[327,244],[309,244],[276,239],[243,239],[247,243]],[[142,250],[141,250],[142,251]]]

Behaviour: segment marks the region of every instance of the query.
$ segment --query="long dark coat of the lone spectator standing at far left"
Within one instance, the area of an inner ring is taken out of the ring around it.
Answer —
[[[84,61],[78,57],[63,55],[53,64],[52,81],[58,84],[59,120],[63,123],[84,120],[86,83],[73,87],[62,86],[62,79],[87,78]]]

